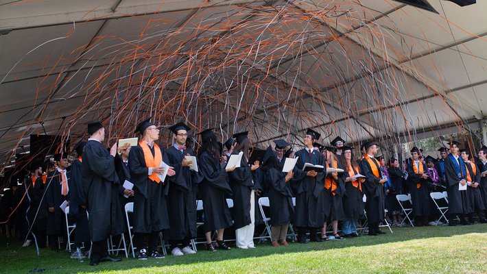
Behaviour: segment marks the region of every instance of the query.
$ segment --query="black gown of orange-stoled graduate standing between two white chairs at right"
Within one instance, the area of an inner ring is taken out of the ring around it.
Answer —
[[[414,161],[407,163],[407,182],[409,184],[409,191],[411,192],[411,201],[413,206],[414,216],[429,216],[431,214],[430,197],[427,188],[428,181],[421,178],[421,174],[414,173]],[[419,161],[423,166],[423,172],[426,172],[426,166]],[[420,184],[418,188],[416,184]]]

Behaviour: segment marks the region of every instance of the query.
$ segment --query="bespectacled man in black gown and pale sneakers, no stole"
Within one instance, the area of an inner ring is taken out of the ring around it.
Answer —
[[[185,123],[177,123],[169,127],[173,132],[174,145],[166,149],[167,164],[174,168],[176,175],[169,178],[167,193],[167,210],[169,229],[163,236],[169,240],[171,253],[174,256],[194,254],[190,240],[196,238],[196,192],[200,182],[199,173],[190,169],[191,160],[185,156],[195,156],[193,149],[186,147],[189,127]]]

